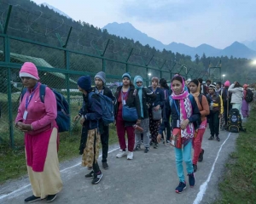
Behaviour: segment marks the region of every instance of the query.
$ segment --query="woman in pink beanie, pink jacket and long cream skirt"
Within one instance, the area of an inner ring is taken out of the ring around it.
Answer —
[[[62,188],[57,154],[59,135],[55,122],[55,94],[46,88],[44,103],[41,102],[38,69],[31,62],[22,65],[20,78],[26,94],[20,100],[15,127],[25,133],[26,166],[33,192],[25,202],[44,198],[53,201]]]

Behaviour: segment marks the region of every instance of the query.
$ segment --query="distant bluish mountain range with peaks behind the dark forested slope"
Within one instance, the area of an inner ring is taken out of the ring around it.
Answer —
[[[254,58],[256,57],[256,41],[255,42],[247,42],[250,45],[250,48],[247,48],[246,45],[240,42],[234,42],[229,47],[224,49],[214,48],[208,44],[201,44],[198,47],[190,47],[183,43],[172,42],[168,45],[163,44],[162,42],[154,39],[153,37],[148,37],[147,34],[142,31],[138,31],[131,23],[109,23],[107,26],[104,26],[102,29],[107,29],[109,34],[117,35],[119,37],[127,37],[133,39],[134,41],[139,41],[143,45],[148,44],[151,47],[154,47],[159,50],[171,50],[173,53],[180,53],[190,55],[193,59],[195,54],[202,56],[202,54],[206,54],[207,56],[222,56],[226,55],[230,57],[231,55],[236,58]],[[254,44],[255,43],[255,44]],[[253,47],[254,46],[254,47]]]

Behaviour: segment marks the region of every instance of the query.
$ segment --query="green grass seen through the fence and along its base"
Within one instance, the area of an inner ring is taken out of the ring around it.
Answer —
[[[15,124],[15,117],[18,109],[18,99],[20,94],[12,94],[12,120]],[[78,114],[81,107],[81,94],[71,96],[70,112],[71,118]],[[26,159],[24,152],[24,134],[14,127],[14,144],[15,148],[10,147],[9,133],[9,102],[7,94],[0,94],[0,104],[2,108],[2,117],[0,118],[0,184],[9,179],[19,178],[26,174]],[[61,133],[59,158],[65,161],[79,156],[81,126],[77,124],[73,127],[71,133]],[[109,144],[117,143],[115,127],[110,125]]]

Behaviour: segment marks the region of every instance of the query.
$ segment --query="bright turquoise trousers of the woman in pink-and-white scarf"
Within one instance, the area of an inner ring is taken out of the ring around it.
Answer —
[[[184,174],[183,174],[183,160],[186,163],[188,174],[194,172],[192,158],[191,158],[192,157],[191,150],[192,150],[192,140],[189,141],[189,143],[185,145],[183,149],[175,148],[177,176],[179,178],[179,181],[181,182],[185,181]]]

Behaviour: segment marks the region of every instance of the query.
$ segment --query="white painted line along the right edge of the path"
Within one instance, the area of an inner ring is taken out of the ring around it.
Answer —
[[[220,146],[220,148],[219,148],[219,150],[218,150],[218,154],[217,154],[217,156],[216,156],[216,158],[215,158],[215,161],[214,161],[213,164],[212,164],[211,172],[209,173],[207,180],[206,180],[203,184],[201,184],[200,190],[199,190],[198,194],[196,195],[196,198],[195,198],[195,201],[193,202],[193,204],[199,204],[199,203],[201,202],[201,200],[203,199],[203,196],[204,196],[204,194],[206,193],[206,190],[207,190],[207,185],[208,185],[209,181],[211,180],[211,177],[212,177],[212,173],[213,173],[213,171],[214,171],[215,164],[216,164],[216,162],[217,162],[217,160],[218,160],[219,153],[220,153],[220,151],[222,150],[223,145],[224,145],[224,144],[226,143],[226,141],[230,138],[230,134],[231,134],[231,133],[229,133],[228,138],[224,140],[224,143],[221,144],[221,146]]]

